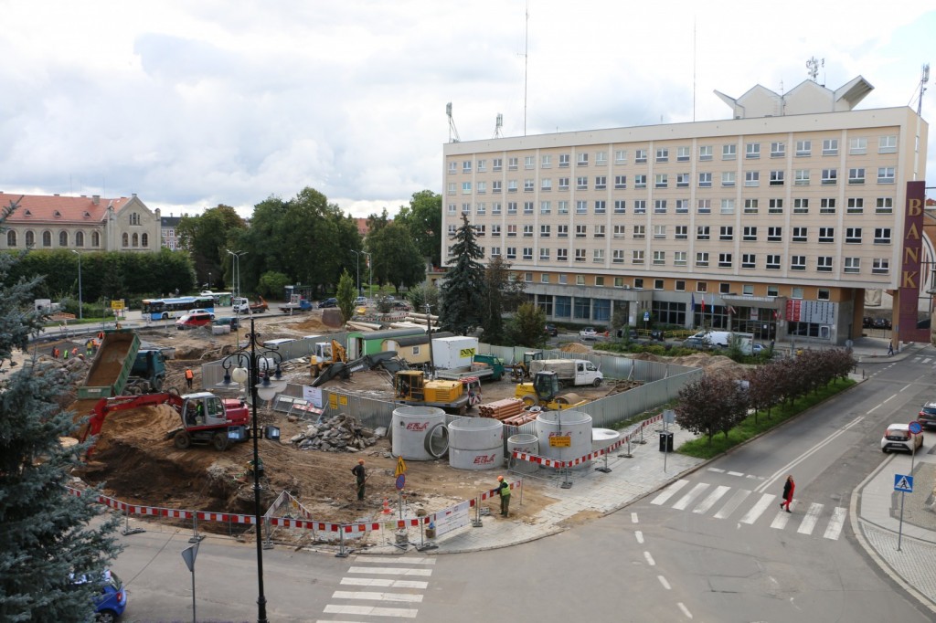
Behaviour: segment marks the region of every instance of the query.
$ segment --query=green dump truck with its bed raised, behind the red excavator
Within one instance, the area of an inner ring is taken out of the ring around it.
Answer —
[[[78,398],[158,392],[165,379],[162,351],[140,350],[139,337],[132,329],[112,329],[104,332],[88,378],[78,388]]]

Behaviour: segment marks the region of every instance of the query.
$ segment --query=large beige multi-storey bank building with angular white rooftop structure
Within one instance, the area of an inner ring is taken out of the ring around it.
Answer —
[[[870,90],[757,86],[718,94],[729,120],[448,143],[443,256],[465,215],[550,320],[621,310],[632,326],[843,343],[866,291],[907,284],[907,182],[925,177],[927,123],[854,109]]]

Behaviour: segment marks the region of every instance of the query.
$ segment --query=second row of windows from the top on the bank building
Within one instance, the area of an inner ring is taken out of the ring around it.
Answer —
[[[744,186],[745,188],[757,188],[761,184],[761,173],[765,173],[765,180],[768,182],[769,186],[782,186],[786,182],[786,171],[782,169],[772,170],[772,171],[744,171]],[[722,188],[733,188],[737,185],[737,173],[736,171],[723,171],[721,179]],[[809,186],[812,176],[812,170],[809,168],[797,168],[793,171],[793,184],[795,186]],[[897,172],[895,167],[877,167],[877,183],[879,184],[892,184],[896,181]],[[689,173],[677,173],[673,176],[670,176],[668,173],[657,173],[653,176],[653,188],[664,189],[670,187],[670,178],[674,180],[676,188],[689,188],[692,182],[692,175]],[[862,185],[865,183],[865,167],[852,167],[848,169],[848,183],[850,185]],[[558,178],[559,184],[556,186],[557,190],[563,192],[570,189],[570,181],[572,178]],[[648,180],[646,175],[635,175],[633,177],[633,187],[635,189],[647,188]],[[820,169],[819,176],[820,184],[823,186],[831,186],[839,183],[839,169],[838,168],[823,168]],[[462,181],[461,182],[461,194],[462,195],[471,195],[472,194],[472,183],[471,181]],[[626,190],[627,189],[627,176],[626,175],[615,175],[614,176],[614,189],[615,190]],[[593,178],[593,187],[594,190],[607,190],[607,175],[597,175]],[[699,188],[712,188],[712,174],[710,172],[700,172],[698,174],[698,187]],[[457,194],[457,183],[450,181],[446,187],[447,195],[456,195]],[[488,182],[487,181],[478,181],[475,186],[475,195],[487,195],[488,193]],[[552,178],[542,178],[540,180],[539,190],[541,193],[549,193],[552,191]],[[585,191],[589,190],[589,177],[587,175],[580,175],[575,178],[575,188],[576,190]],[[524,193],[533,193],[536,190],[536,181],[533,178],[527,178],[523,181],[523,192]],[[501,180],[494,180],[490,182],[490,192],[494,195],[498,195],[504,192],[504,183]],[[517,180],[507,180],[507,193],[516,193],[518,192],[518,181]]]

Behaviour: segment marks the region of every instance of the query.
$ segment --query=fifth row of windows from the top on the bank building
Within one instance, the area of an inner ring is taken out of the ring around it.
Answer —
[[[518,258],[523,260],[533,260],[534,258],[534,248],[533,247],[524,247],[520,250],[520,254],[517,252],[517,247],[505,247],[505,254],[503,256],[507,260],[516,260]],[[541,247],[539,249],[539,260],[541,262],[548,262],[550,258],[550,249]],[[588,250],[586,249],[575,249],[575,261],[576,262],[587,262],[588,261]],[[689,266],[689,253],[685,251],[674,251],[671,252],[672,262],[667,264],[667,254],[670,252],[666,251],[654,251],[652,252],[651,264],[652,266],[674,266],[674,267],[686,267]],[[631,265],[635,266],[645,266],[647,262],[647,252],[643,249],[632,249],[629,252],[623,249],[615,249],[611,252],[611,263],[612,264],[624,264],[627,255],[630,254]],[[449,255],[451,255],[451,249],[449,249]],[[717,261],[715,260],[716,254],[709,254],[708,252],[697,252],[695,254],[695,268],[734,268],[735,258],[732,253],[720,253],[717,254]],[[501,247],[490,247],[490,257],[501,257]],[[780,270],[782,268],[782,254],[764,254],[763,263],[760,263],[758,260],[757,254],[740,254],[741,262],[740,268],[765,268],[767,270]],[[832,272],[835,267],[834,256],[833,255],[820,255],[815,257],[815,270],[818,272]],[[568,249],[556,249],[556,261],[557,262],[567,262],[569,261],[569,250]],[[604,264],[606,262],[606,251],[605,249],[592,249],[592,262]],[[844,257],[842,258],[842,272],[846,274],[856,274],[861,272],[861,258],[860,257]],[[760,266],[758,266],[760,264]],[[807,256],[806,255],[791,255],[790,256],[790,270],[806,270],[807,268]],[[872,275],[887,275],[890,274],[890,260],[885,257],[878,257],[871,259],[871,274]]]

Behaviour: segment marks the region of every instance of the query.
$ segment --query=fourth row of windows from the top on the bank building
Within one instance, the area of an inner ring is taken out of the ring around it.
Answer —
[[[449,234],[454,236],[455,231],[452,229],[453,225],[449,226]],[[487,225],[474,225],[475,235],[478,237],[486,236],[488,233]],[[574,227],[574,229],[570,229]],[[589,236],[589,225],[556,225],[556,238],[569,238],[570,232],[574,232],[575,238],[588,238]],[[607,225],[591,225],[592,229],[592,238],[594,239],[604,239],[607,234]],[[714,227],[711,225],[695,225],[695,239],[696,240],[710,240],[713,238],[712,231]],[[809,227],[805,225],[797,225],[791,227],[792,236],[790,239],[793,242],[809,242]],[[835,227],[817,227],[818,237],[817,242],[820,243],[834,243],[835,242]],[[871,229],[871,227],[869,227]],[[891,243],[891,228],[890,227],[873,227],[874,236],[872,240],[874,244],[890,244]],[[783,227],[782,226],[766,226],[761,227],[761,231],[767,230],[766,241],[768,242],[782,242],[783,241]],[[533,238],[534,236],[534,225],[506,225],[506,230],[502,225],[491,225],[490,226],[490,235],[492,238],[500,238],[502,232],[506,233],[507,238],[515,238],[519,233],[523,238]],[[672,225],[672,229],[669,229],[669,225],[653,225],[653,239],[665,240],[668,237],[668,232],[673,232],[673,239],[675,240],[687,240],[689,239],[689,225]],[[540,225],[539,226],[539,238],[551,238],[552,237],[552,225]],[[612,238],[615,239],[624,239],[627,238],[627,225],[612,225]],[[632,225],[631,226],[631,238],[632,239],[646,239],[647,238],[647,225]],[[722,241],[732,241],[735,239],[735,226],[734,225],[721,225],[718,227],[717,238]],[[757,225],[744,225],[741,229],[741,240],[745,242],[758,242],[758,227]],[[845,243],[846,244],[862,244],[864,242],[864,228],[863,227],[845,227]]]

